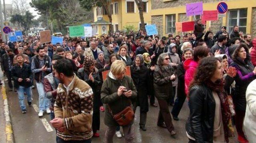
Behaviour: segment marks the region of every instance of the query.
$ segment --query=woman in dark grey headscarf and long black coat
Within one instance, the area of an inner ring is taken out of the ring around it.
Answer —
[[[131,66],[131,75],[133,83],[138,91],[136,102],[134,103],[134,113],[136,107],[140,106],[140,129],[146,131],[146,118],[148,112],[148,89],[149,84],[149,71],[144,66],[143,56],[138,54],[134,59],[134,64]]]

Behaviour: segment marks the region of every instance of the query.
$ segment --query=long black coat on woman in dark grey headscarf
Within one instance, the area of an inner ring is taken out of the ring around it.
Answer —
[[[140,70],[136,70],[136,66],[132,65],[130,69],[132,81],[138,92],[136,106],[140,106],[140,112],[148,112],[148,89],[150,89],[148,68],[140,66]]]

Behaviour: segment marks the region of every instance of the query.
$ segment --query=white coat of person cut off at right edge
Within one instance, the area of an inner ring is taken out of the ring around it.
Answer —
[[[256,137],[256,80],[252,81],[246,90],[246,112],[244,117],[244,131],[249,143],[254,143]]]

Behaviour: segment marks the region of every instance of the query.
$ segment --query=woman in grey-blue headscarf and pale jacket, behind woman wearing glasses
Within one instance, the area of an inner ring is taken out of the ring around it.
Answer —
[[[170,57],[170,65],[172,66],[174,75],[177,77],[177,66],[180,64],[180,57],[176,53],[177,46],[174,43],[171,43],[168,48],[167,54]],[[169,104],[174,105],[174,97],[176,94],[176,86],[178,85],[178,78],[175,79],[175,81],[172,81],[172,97],[170,98]]]

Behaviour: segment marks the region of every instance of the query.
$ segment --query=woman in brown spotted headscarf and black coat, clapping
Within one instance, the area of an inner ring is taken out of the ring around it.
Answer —
[[[98,73],[98,69],[95,68],[96,61],[92,56],[86,56],[84,58],[84,68],[78,70],[78,77],[84,80],[92,87],[93,91],[93,115],[92,115],[92,131],[94,137],[100,135],[97,131],[100,129],[100,89],[102,81]]]

